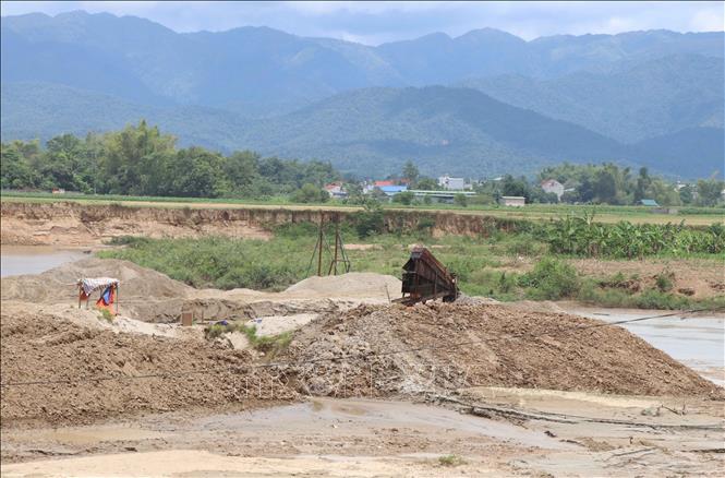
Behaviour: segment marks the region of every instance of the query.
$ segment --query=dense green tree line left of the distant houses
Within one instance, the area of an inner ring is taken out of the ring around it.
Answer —
[[[225,156],[200,146],[177,147],[172,135],[145,121],[121,131],[63,134],[2,143],[3,190],[51,190],[179,198],[264,198],[312,189],[316,199],[339,179],[329,163],[282,160],[251,151]],[[307,184],[307,186],[305,186]]]

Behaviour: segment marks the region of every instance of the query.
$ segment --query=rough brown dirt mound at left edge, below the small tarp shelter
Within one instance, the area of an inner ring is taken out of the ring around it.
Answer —
[[[218,344],[114,334],[44,314],[3,313],[0,327],[2,383],[40,382],[2,386],[3,427],[295,396],[273,372],[250,368],[249,352]],[[138,375],[152,377],[131,378]],[[53,383],[64,380],[72,383]]]

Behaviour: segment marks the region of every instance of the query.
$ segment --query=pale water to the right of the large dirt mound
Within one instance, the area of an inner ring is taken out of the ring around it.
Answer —
[[[666,311],[584,309],[571,312],[605,322],[640,319]],[[725,386],[725,315],[673,315],[623,324],[652,346],[685,363],[704,378]]]

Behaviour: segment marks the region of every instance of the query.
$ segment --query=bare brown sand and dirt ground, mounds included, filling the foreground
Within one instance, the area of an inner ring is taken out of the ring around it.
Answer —
[[[112,322],[62,289],[109,270],[124,304]],[[597,322],[556,304],[389,306],[399,287],[350,274],[194,290],[96,259],[3,279],[2,383],[44,384],[3,386],[2,476],[722,471],[722,389],[625,330],[557,332]],[[177,302],[297,332],[270,363],[243,334],[209,342],[201,323],[159,322]]]

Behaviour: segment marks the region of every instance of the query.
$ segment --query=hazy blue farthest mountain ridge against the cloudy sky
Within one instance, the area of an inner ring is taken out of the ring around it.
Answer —
[[[448,84],[497,74],[549,79],[672,55],[722,58],[725,39],[722,32],[652,31],[524,41],[482,28],[456,38],[432,34],[370,47],[268,27],[178,34],[144,19],[82,11],[4,16],[2,34],[3,82],[61,83],[132,100],[140,98],[129,91],[138,89],[148,101],[226,109],[267,101],[297,107],[368,86]],[[97,79],[94,87],[88,77]]]

